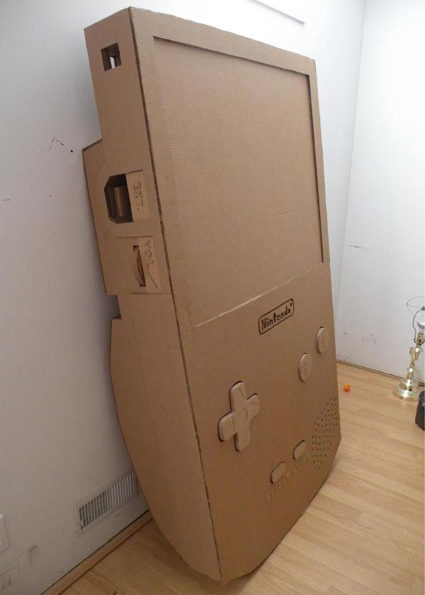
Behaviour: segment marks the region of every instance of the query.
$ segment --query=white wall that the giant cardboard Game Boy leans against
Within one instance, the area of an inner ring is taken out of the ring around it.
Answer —
[[[306,25],[252,0],[135,5],[317,60],[337,297],[363,0],[307,2]],[[130,465],[108,372],[117,307],[103,290],[81,161],[81,149],[100,135],[83,28],[120,8],[114,0],[3,0],[0,7],[0,514],[11,544],[0,554],[0,574],[13,568],[7,595],[39,594],[145,508],[139,499],[74,535],[74,505]]]

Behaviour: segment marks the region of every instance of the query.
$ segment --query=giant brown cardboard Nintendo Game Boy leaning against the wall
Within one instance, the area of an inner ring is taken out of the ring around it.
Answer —
[[[297,521],[340,439],[314,62],[133,8],[86,42],[120,424],[159,528],[228,582]]]

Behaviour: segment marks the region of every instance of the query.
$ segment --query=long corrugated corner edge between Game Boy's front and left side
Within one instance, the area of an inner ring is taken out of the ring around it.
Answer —
[[[188,370],[187,370],[187,365],[186,365],[186,358],[184,356],[183,341],[181,339],[181,329],[180,329],[180,324],[179,324],[179,316],[178,316],[178,313],[177,313],[176,300],[175,300],[175,297],[174,297],[173,283],[172,283],[172,280],[171,280],[171,269],[170,269],[170,266],[169,266],[169,254],[168,254],[168,250],[167,250],[167,246],[166,246],[166,235],[165,235],[165,228],[164,228],[164,220],[163,220],[163,217],[162,217],[162,208],[161,208],[161,201],[159,200],[159,188],[158,188],[158,183],[157,183],[157,174],[156,174],[156,171],[155,171],[154,155],[153,155],[153,152],[152,152],[152,139],[151,139],[150,130],[149,130],[149,120],[148,120],[148,117],[147,117],[147,107],[146,107],[146,100],[145,100],[145,92],[144,92],[143,85],[142,85],[142,72],[141,72],[141,69],[140,69],[139,50],[138,50],[138,46],[137,46],[137,38],[136,38],[136,35],[135,35],[134,23],[132,21],[132,8],[128,8],[128,13],[129,13],[129,18],[130,18],[130,27],[131,27],[132,38],[133,38],[133,42],[134,42],[134,45],[135,45],[135,57],[136,57],[137,74],[139,75],[140,94],[142,96],[143,111],[145,113],[147,141],[148,141],[148,145],[149,145],[149,155],[150,155],[150,161],[151,161],[151,165],[152,165],[152,174],[153,174],[153,178],[154,178],[155,192],[157,193],[157,197],[156,198],[157,198],[157,205],[158,205],[159,222],[161,224],[162,237],[163,237],[163,242],[164,242],[164,253],[165,253],[165,261],[166,261],[166,269],[167,269],[167,273],[168,273],[168,277],[169,277],[171,299],[173,300],[173,307],[174,307],[174,315],[176,317],[176,327],[177,327],[177,332],[179,334],[179,344],[180,344],[181,359],[182,359],[182,363],[183,363],[184,375],[185,375],[185,378],[186,378],[186,387],[187,387],[187,390],[188,390],[188,399],[189,399],[189,404],[190,404],[190,407],[191,407],[191,416],[192,416],[192,421],[193,421],[193,428],[195,429],[196,443],[198,445],[198,455],[199,455],[200,467],[201,467],[202,475],[203,475],[203,483],[204,483],[205,495],[207,497],[208,511],[210,513],[210,524],[211,524],[212,538],[214,540],[214,546],[215,546],[215,555],[217,557],[218,572],[220,574],[220,582],[222,582],[222,569],[221,569],[221,564],[220,564],[220,555],[218,553],[218,545],[217,545],[217,538],[215,536],[214,523],[212,522],[212,509],[211,509],[211,502],[210,502],[210,494],[208,494],[208,485],[207,485],[207,481],[206,481],[206,478],[205,478],[205,468],[204,468],[204,463],[203,463],[202,452],[201,452],[201,449],[200,449],[200,438],[199,438],[199,434],[198,434],[198,427],[196,425],[195,415],[194,415],[194,412],[193,412],[193,402],[192,402],[191,388],[190,388],[190,385],[189,385]]]

